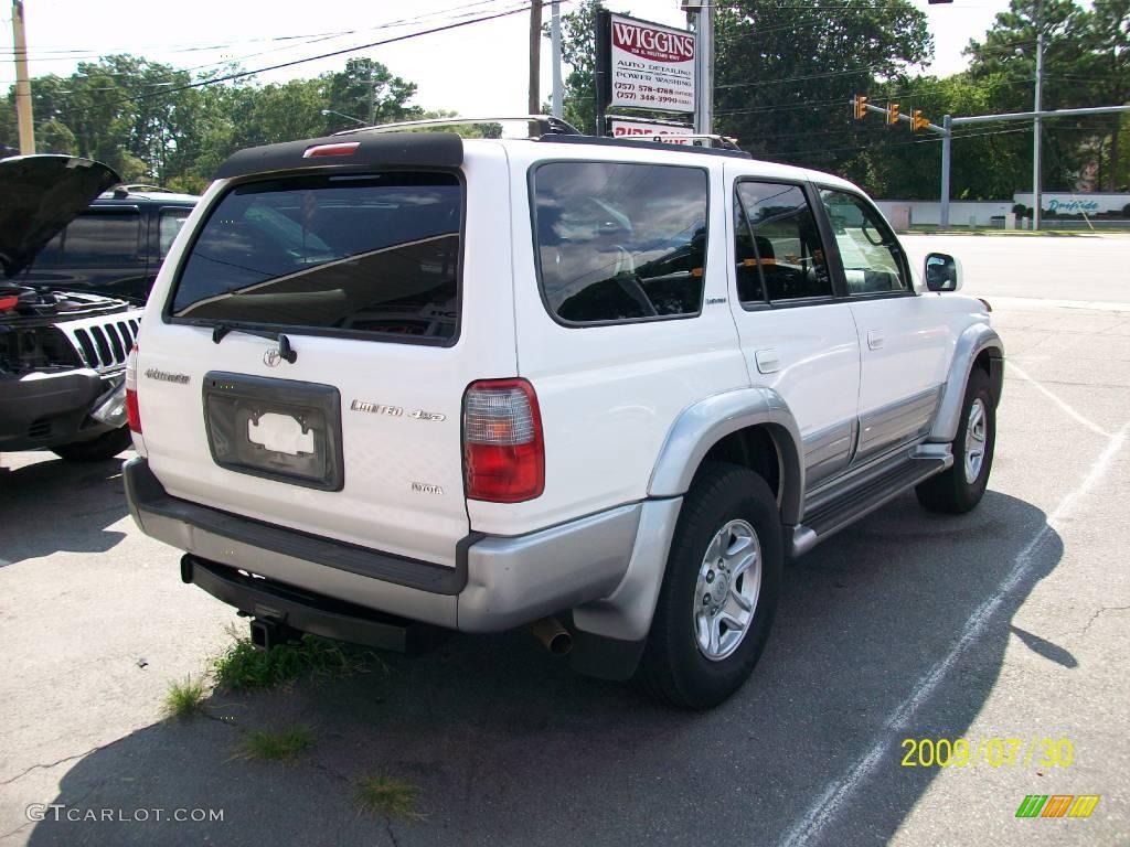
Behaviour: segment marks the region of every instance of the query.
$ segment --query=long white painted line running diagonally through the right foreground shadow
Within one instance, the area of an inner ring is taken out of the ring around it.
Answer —
[[[911,689],[910,696],[890,713],[883,725],[883,730],[879,731],[878,737],[876,737],[875,743],[867,753],[842,777],[828,783],[819,798],[809,806],[805,814],[797,820],[792,828],[777,842],[781,847],[800,847],[808,844],[810,839],[819,836],[836,812],[840,811],[841,806],[843,806],[844,802],[871,776],[875,766],[885,754],[895,749],[897,740],[902,737],[903,731],[910,723],[911,717],[914,716],[914,713],[930,698],[970,645],[981,637],[982,631],[989,625],[989,621],[992,620],[993,614],[997,613],[1001,603],[1005,602],[1009,592],[1028,575],[1033,566],[1032,555],[1051,535],[1052,530],[1068,517],[1079,498],[1086,496],[1106,474],[1114,457],[1125,443],[1127,429],[1128,427],[1123,426],[1118,433],[1109,437],[1106,447],[1098,459],[1095,460],[1095,463],[1090,466],[1079,487],[1060,500],[1059,506],[1055,507],[1055,510],[1048,518],[1046,523],[1032,536],[1032,540],[1025,544],[1024,549],[1016,555],[1011,570],[1009,570],[1003,582],[997,586],[996,593],[977,606],[973,614],[966,619],[965,626],[962,627],[962,636],[954,644],[949,653],[919,679],[914,688]]]

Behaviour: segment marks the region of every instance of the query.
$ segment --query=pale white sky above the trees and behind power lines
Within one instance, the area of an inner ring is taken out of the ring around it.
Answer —
[[[980,38],[1007,0],[954,0],[923,9],[935,37],[935,61],[925,72],[946,76],[963,70],[962,51]],[[528,2],[528,0],[527,0]],[[572,2],[563,2],[567,12]],[[685,26],[678,0],[607,0],[606,8],[634,17]],[[523,0],[414,0],[412,2],[296,2],[295,0],[25,0],[32,76],[69,75],[80,60],[128,52],[179,68],[208,69],[238,61],[246,69],[305,59],[376,41],[395,38],[488,15],[493,20],[411,37],[259,76],[282,81],[339,70],[351,55],[368,56],[418,85],[415,99],[425,108],[455,110],[464,115],[524,114],[529,50],[529,12]],[[11,14],[0,0],[0,89],[15,80],[11,64]],[[110,12],[113,9],[113,14]],[[513,14],[505,15],[512,11]],[[549,19],[548,8],[545,19]],[[542,46],[541,91],[548,99],[550,56]]]

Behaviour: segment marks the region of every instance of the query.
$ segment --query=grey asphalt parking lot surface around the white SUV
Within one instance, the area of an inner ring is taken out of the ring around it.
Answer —
[[[906,244],[959,254],[993,304],[1009,367],[990,490],[956,518],[904,496],[791,567],[753,680],[710,714],[574,676],[513,632],[163,721],[168,682],[238,619],[136,530],[114,462],[6,454],[0,841],[1130,844],[1130,237]],[[294,722],[316,731],[295,763],[232,759],[250,728]],[[907,767],[907,739],[1018,752]],[[1070,742],[1068,767],[1042,763],[1044,739]],[[358,813],[368,775],[418,785],[425,820]],[[1028,794],[1101,800],[1017,819]],[[33,803],[224,820],[37,822]]]

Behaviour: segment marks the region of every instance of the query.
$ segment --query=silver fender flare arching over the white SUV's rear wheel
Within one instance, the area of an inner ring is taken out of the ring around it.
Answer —
[[[675,419],[647,483],[649,497],[679,497],[690,488],[703,457],[725,436],[764,426],[781,459],[781,523],[800,521],[805,492],[800,427],[772,388],[738,388],[701,400]]]

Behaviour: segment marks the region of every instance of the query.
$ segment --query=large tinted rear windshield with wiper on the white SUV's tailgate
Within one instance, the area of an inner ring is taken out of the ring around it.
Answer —
[[[450,342],[459,320],[462,208],[461,183],[443,173],[237,185],[191,245],[171,315]]]

